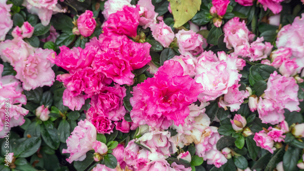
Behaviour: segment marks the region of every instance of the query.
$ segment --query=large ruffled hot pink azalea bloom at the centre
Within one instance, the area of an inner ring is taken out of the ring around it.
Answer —
[[[165,61],[153,78],[133,87],[130,98],[133,122],[163,129],[171,125],[171,120],[175,125],[184,124],[190,112],[188,105],[197,100],[200,86],[183,74],[179,62]]]

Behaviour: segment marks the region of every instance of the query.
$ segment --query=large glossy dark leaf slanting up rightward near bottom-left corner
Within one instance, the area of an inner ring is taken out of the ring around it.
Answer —
[[[39,149],[41,144],[40,137],[32,137],[23,141],[15,152],[16,157],[29,157],[33,155]]]

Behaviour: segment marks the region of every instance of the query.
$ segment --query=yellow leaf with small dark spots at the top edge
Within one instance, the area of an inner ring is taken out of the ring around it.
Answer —
[[[168,0],[174,17],[174,26],[180,27],[192,19],[199,11],[201,0]]]

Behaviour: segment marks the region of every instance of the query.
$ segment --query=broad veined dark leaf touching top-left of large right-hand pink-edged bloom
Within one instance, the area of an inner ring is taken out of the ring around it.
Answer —
[[[249,82],[251,86],[254,86],[254,83],[259,80],[268,79],[270,74],[272,74],[276,69],[273,66],[265,64],[256,64],[252,65],[249,70]]]

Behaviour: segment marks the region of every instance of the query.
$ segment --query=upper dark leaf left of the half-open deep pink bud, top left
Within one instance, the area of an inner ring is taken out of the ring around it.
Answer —
[[[73,22],[73,19],[66,15],[51,18],[52,26],[54,26],[54,28],[56,30],[70,30],[71,31],[74,27],[74,24],[72,22]]]

